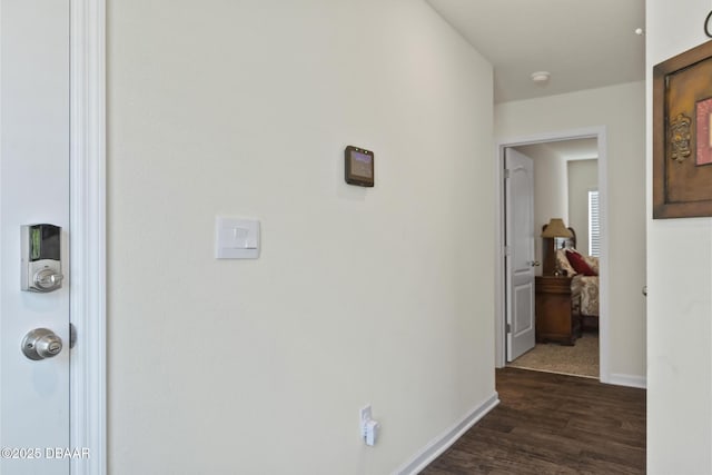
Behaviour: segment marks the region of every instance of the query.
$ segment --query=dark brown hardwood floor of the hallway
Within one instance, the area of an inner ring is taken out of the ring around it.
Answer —
[[[645,390],[496,370],[501,403],[422,475],[644,474]]]

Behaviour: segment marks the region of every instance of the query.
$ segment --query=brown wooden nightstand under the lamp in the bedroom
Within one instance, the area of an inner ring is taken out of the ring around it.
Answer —
[[[574,310],[571,277],[536,277],[536,342],[573,345],[581,336],[581,316]]]

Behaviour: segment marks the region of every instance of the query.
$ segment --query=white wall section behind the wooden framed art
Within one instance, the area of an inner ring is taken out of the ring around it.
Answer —
[[[712,219],[652,219],[652,68],[703,43],[709,0],[647,0],[647,472],[712,473]]]

